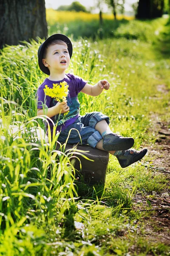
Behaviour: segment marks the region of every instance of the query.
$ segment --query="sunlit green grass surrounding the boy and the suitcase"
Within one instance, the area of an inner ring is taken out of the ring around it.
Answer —
[[[138,22],[131,22],[135,31],[140,29]],[[155,24],[161,30],[164,20],[150,22],[154,36],[149,41],[73,41],[67,70],[91,84],[108,79],[111,89],[100,96],[79,94],[81,114],[107,114],[111,129],[133,136],[135,148],[155,141],[147,133],[150,115],[169,109],[167,95],[156,90],[168,80],[168,72],[161,76],[162,63],[168,71],[170,62],[153,52]],[[135,236],[135,253],[140,248],[142,255],[168,255],[165,245],[152,245],[137,235],[144,214],[133,210],[133,196],[160,192],[167,183],[142,165],[148,160],[149,166],[150,158],[122,170],[110,157],[105,185],[89,187],[74,179],[72,152],[56,150],[55,134],[49,143],[43,133],[37,138],[42,121],[48,122],[36,116],[35,92],[46,77],[37,64],[41,43],[6,46],[0,55],[0,255],[127,255]],[[127,239],[121,240],[123,235]]]

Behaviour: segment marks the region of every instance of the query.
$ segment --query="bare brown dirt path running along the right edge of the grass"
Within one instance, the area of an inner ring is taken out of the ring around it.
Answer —
[[[157,90],[167,93],[163,86],[158,86]],[[133,201],[135,210],[146,212],[146,216],[142,218],[144,233],[139,234],[149,242],[170,246],[170,123],[161,122],[161,118],[158,115],[152,116],[153,128],[149,132],[155,134],[156,142],[147,146],[150,159],[153,159],[147,168],[152,170],[153,177],[160,174],[166,177],[166,188],[160,193],[153,191],[153,198],[148,198],[149,194],[138,193]]]

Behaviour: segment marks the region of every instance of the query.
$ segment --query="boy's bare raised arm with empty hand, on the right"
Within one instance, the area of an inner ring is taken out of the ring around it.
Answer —
[[[100,80],[97,84],[93,86],[91,84],[85,84],[81,92],[91,96],[98,96],[100,95],[100,93],[102,93],[103,89],[108,90],[109,87],[110,84],[107,80]]]

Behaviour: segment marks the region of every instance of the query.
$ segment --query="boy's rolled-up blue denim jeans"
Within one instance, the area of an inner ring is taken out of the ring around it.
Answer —
[[[64,131],[61,131],[58,137],[58,141],[61,143],[65,143],[69,131],[74,128],[79,131],[81,136],[82,145],[89,144],[92,148],[96,147],[96,144],[102,140],[102,135],[95,129],[96,123],[105,119],[106,122],[110,123],[109,117],[102,114],[101,112],[91,112],[85,114],[84,116],[79,116],[76,121],[69,125]],[[81,143],[79,134],[77,130],[71,130],[71,133],[68,138],[69,144],[77,144]]]

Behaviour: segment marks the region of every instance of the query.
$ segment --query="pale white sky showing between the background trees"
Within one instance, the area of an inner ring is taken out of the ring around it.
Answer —
[[[70,5],[74,1],[78,1],[79,3],[81,3],[86,8],[94,6],[94,3],[95,3],[95,0],[62,0],[62,1],[61,0],[45,0],[45,7],[46,8],[57,9],[61,5]],[[103,2],[105,2],[105,1],[103,1]],[[136,2],[137,2],[137,0],[125,0],[125,11],[132,11],[133,9],[131,8],[130,5],[132,3],[136,3]],[[108,8],[104,4],[103,5],[103,12],[107,12],[107,11],[108,11]],[[96,9],[96,12],[98,12],[97,9]]]

